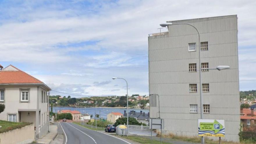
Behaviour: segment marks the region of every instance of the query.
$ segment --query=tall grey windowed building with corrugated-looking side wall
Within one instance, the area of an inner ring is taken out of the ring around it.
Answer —
[[[237,15],[172,21],[193,24],[200,33],[203,68],[229,65],[228,70],[202,70],[205,119],[224,119],[225,138],[239,141],[239,73]],[[164,132],[198,136],[200,119],[198,34],[189,25],[171,25],[150,34],[150,117],[164,119]]]

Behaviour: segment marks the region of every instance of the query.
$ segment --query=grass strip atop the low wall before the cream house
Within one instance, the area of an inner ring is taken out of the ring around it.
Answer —
[[[9,122],[5,120],[0,120],[0,125],[2,126],[2,128],[0,129],[0,133],[4,133],[13,129],[19,129],[31,124],[31,122]]]

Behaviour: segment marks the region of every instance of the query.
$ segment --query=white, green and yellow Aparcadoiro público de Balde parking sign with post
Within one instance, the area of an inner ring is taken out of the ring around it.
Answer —
[[[221,137],[225,136],[224,123],[224,120],[198,119],[198,136],[219,137],[220,144]]]

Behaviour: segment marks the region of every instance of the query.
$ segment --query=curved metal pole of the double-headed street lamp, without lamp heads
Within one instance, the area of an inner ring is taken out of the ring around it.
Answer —
[[[187,24],[187,23],[177,23],[177,24]],[[190,25],[192,26],[193,28],[195,28],[195,30],[197,31],[198,33],[198,51],[199,51],[199,78],[200,78],[200,118],[201,119],[204,119],[203,117],[203,95],[202,95],[202,66],[201,66],[201,49],[200,49],[200,33],[198,31],[198,29],[193,26],[192,24],[187,24],[187,25]],[[205,144],[205,139],[204,137],[202,136],[202,139],[201,139],[201,143],[202,144]]]

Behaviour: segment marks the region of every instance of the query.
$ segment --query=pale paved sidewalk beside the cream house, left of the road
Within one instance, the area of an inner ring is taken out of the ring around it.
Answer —
[[[50,125],[49,126],[49,133],[47,133],[44,137],[37,140],[38,144],[49,144],[58,134],[58,126],[57,125]]]

